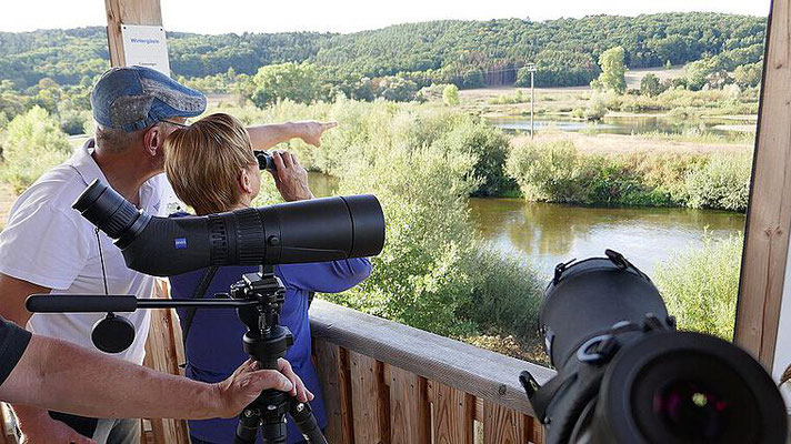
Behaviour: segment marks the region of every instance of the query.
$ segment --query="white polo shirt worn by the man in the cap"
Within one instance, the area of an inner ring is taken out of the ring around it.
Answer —
[[[78,149],[61,165],[44,173],[11,209],[8,224],[0,233],[0,273],[52,289],[51,294],[104,294],[99,242],[104,256],[110,294],[133,294],[150,297],[153,278],[127,268],[121,251],[71,204],[91,181],[108,183],[91,157],[93,140]],[[140,189],[140,206],[152,215],[164,211],[162,193],[167,189],[163,174],[152,178]],[[134,324],[134,343],[116,354],[126,361],[142,364],[149,331],[149,311],[119,313]],[[91,342],[93,324],[104,317],[100,313],[41,314],[28,322],[33,333],[60,337],[96,350]]]

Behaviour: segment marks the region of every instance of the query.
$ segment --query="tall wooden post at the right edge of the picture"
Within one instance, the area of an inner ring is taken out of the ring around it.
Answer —
[[[771,372],[791,230],[791,9],[773,0],[737,304],[737,344]]]

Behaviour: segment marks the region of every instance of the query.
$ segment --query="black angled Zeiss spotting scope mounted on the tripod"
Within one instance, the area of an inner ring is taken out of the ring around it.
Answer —
[[[72,206],[114,240],[127,266],[154,276],[211,265],[364,258],[379,254],[384,244],[382,208],[370,194],[159,218],[94,180]]]

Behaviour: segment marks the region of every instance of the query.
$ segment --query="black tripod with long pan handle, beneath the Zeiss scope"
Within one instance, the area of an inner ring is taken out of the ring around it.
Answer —
[[[262,265],[258,273],[242,275],[231,285],[231,299],[161,300],[137,299],[130,295],[58,295],[34,294],[26,306],[32,313],[102,313],[108,316],[93,326],[94,344],[100,350],[118,353],[134,340],[134,327],[113,312],[133,312],[138,309],[237,309],[239,320],[248,331],[242,337],[244,352],[258,361],[263,370],[279,370],[278,360],[293,344],[289,329],[280,325],[280,311],[286,287],[274,275],[274,266]],[[101,334],[98,334],[101,333]],[[101,343],[96,340],[100,339]],[[253,444],[261,428],[266,444],[284,444],[288,432],[286,415],[311,444],[328,444],[313,416],[310,404],[299,402],[288,393],[266,390],[239,416],[234,444]]]

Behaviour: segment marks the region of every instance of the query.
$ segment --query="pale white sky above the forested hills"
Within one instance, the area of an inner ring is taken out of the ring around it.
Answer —
[[[104,26],[102,0],[0,0],[0,31]],[[769,0],[160,0],[166,30],[356,32],[439,19],[550,20],[589,14],[714,11],[768,16]]]

